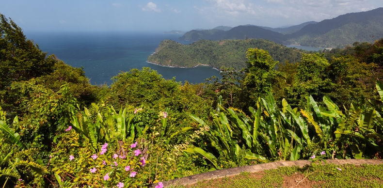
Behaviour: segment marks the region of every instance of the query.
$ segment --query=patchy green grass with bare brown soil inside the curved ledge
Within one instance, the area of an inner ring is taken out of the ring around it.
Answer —
[[[341,169],[338,170],[337,168]],[[383,164],[312,164],[299,168],[281,167],[263,172],[242,172],[239,175],[198,182],[176,188],[383,188]]]

